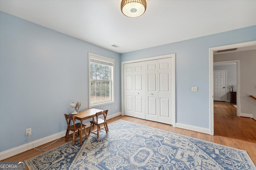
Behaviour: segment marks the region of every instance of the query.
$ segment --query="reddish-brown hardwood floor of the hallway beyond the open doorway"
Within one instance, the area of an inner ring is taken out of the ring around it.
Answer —
[[[256,143],[256,121],[236,116],[236,107],[214,101],[214,135]]]

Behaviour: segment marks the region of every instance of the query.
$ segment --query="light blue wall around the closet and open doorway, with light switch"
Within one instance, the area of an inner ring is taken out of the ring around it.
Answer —
[[[121,61],[175,53],[176,123],[209,129],[209,48],[254,40],[256,25],[123,53]],[[198,86],[198,92],[191,92],[192,86]]]

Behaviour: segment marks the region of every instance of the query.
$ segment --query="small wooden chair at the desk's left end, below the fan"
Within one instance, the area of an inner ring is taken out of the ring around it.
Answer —
[[[65,118],[66,118],[66,121],[67,121],[67,124],[68,124],[67,131],[66,131],[66,139],[65,139],[65,141],[68,141],[69,131],[73,131],[72,145],[74,145],[74,143],[76,141],[80,140],[80,127],[81,127],[81,123],[75,123],[76,117],[74,117],[72,115],[65,114]],[[70,124],[71,121],[73,122],[73,124]],[[82,127],[84,128],[84,133],[85,133],[85,136],[87,138],[87,133],[86,133],[86,129],[85,129],[86,125],[83,124]],[[79,138],[77,140],[75,140],[75,132],[77,130],[78,130]]]

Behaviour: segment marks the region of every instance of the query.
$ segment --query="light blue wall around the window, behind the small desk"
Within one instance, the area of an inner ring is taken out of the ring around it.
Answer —
[[[0,45],[0,152],[28,143],[27,128],[33,141],[66,130],[72,102],[88,108],[88,52],[115,59],[116,102],[98,108],[121,111],[119,53],[4,12]]]

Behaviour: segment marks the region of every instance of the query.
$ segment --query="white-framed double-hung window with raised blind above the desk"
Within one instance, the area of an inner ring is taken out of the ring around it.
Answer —
[[[89,108],[114,102],[114,59],[92,53],[89,58]]]

